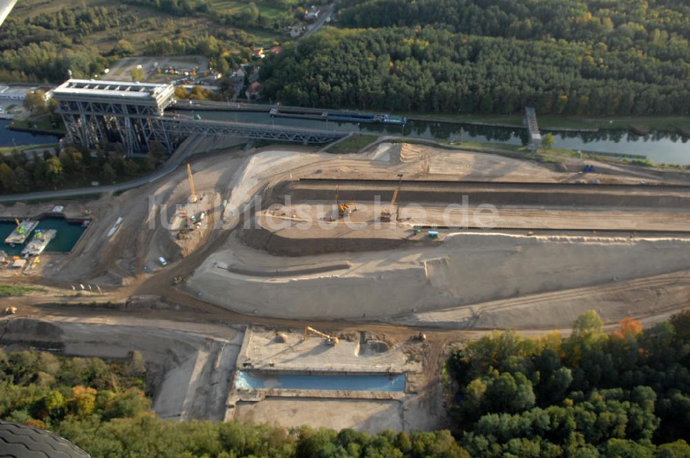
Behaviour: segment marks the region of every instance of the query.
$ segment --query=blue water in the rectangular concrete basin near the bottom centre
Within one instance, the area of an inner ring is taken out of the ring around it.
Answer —
[[[235,388],[279,388],[283,390],[352,390],[398,391],[405,390],[405,376],[398,375],[254,375],[239,371]]]

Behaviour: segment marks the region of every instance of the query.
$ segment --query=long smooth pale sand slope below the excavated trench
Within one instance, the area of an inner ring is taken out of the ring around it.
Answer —
[[[340,272],[248,277],[215,267],[217,263],[254,262],[252,257],[236,256],[235,250],[210,256],[188,286],[202,291],[208,301],[244,313],[355,319],[675,272],[690,268],[690,241],[459,232],[436,248],[348,255],[352,267]],[[262,262],[270,259],[265,255]],[[328,301],[319,301],[322,297]]]

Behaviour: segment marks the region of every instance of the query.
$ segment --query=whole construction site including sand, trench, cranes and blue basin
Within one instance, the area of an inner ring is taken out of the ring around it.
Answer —
[[[188,165],[117,196],[0,208],[91,219],[70,252],[0,270],[41,287],[12,299],[3,343],[141,350],[165,418],[432,430],[447,422],[444,358],[467,339],[687,304],[682,171],[231,143],[189,139]]]

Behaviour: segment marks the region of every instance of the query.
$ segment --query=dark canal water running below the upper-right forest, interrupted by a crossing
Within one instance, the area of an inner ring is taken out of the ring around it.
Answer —
[[[189,114],[190,112],[185,112]],[[477,126],[475,124],[442,123],[435,121],[408,121],[407,126],[384,126],[377,123],[349,123],[317,121],[315,119],[272,118],[265,112],[219,112],[195,110],[202,119],[239,121],[334,130],[338,132],[373,132],[380,135],[404,135],[420,139],[452,141],[480,141],[526,145],[527,131],[523,128]],[[656,163],[690,164],[690,139],[677,134],[653,132],[635,135],[627,130],[601,130],[600,132],[549,131],[555,136],[555,146],[591,152],[609,152],[618,155],[644,156]]]

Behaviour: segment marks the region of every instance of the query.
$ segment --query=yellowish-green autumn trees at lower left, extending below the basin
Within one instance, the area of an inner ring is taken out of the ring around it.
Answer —
[[[469,457],[448,431],[368,435],[162,420],[148,412],[147,364],[136,351],[126,360],[104,361],[0,348],[0,419],[48,428],[93,458]]]

